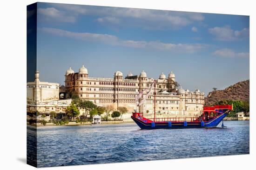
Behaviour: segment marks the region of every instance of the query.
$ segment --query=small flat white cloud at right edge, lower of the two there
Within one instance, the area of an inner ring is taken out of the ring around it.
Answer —
[[[213,52],[213,55],[219,57],[249,57],[249,52],[238,52],[236,53],[231,49],[220,49]]]

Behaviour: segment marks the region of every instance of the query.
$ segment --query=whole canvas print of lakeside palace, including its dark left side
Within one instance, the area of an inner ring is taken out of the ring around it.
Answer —
[[[27,6],[27,164],[239,154],[249,16]]]

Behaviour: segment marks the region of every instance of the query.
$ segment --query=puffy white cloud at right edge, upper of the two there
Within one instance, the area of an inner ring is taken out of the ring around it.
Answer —
[[[209,33],[214,35],[220,41],[233,41],[243,38],[249,38],[249,28],[243,30],[232,30],[229,25],[222,27],[209,28]]]

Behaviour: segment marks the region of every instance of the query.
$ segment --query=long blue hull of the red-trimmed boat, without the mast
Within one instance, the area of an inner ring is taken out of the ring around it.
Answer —
[[[131,116],[131,118],[135,121],[135,123],[141,128],[141,129],[184,129],[184,128],[204,128],[204,127],[216,127],[225,116],[228,115],[227,113],[222,113],[218,117],[209,120],[209,121],[192,121],[192,122],[152,122],[148,123],[145,121],[142,121],[140,119],[135,118],[134,116]]]

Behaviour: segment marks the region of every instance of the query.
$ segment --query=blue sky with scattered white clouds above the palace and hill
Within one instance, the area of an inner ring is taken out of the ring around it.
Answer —
[[[173,70],[207,95],[249,79],[249,16],[38,3],[40,81],[64,84],[82,64],[89,77]]]

